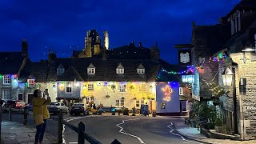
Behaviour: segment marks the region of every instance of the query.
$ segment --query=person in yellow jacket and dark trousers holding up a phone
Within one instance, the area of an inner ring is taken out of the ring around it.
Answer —
[[[49,95],[47,96],[47,98]],[[50,99],[50,98],[49,98]],[[38,144],[40,135],[42,134],[42,126],[44,124],[43,117],[42,117],[42,110],[43,105],[46,103],[46,101],[49,101],[46,98],[42,98],[42,92],[41,90],[34,90],[34,98],[32,99],[32,106],[33,106],[33,115],[34,115],[34,123],[37,129],[37,132],[35,134],[35,143]]]

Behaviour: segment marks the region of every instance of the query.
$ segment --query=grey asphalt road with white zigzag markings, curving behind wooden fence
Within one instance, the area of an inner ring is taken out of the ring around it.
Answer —
[[[55,115],[57,116],[57,115]],[[3,118],[8,118],[4,113]],[[78,126],[79,122],[86,125],[86,133],[96,138],[102,143],[111,143],[118,139],[122,144],[155,144],[155,143],[198,143],[183,138],[174,128],[175,122],[180,122],[180,118],[170,117],[143,117],[143,116],[122,116],[122,115],[90,115],[90,116],[70,116],[64,114],[63,118]],[[23,122],[22,114],[13,114],[14,122]],[[28,115],[28,125],[34,126],[33,116]],[[46,132],[57,137],[57,122],[49,120]],[[64,126],[64,142],[77,143],[78,134]]]

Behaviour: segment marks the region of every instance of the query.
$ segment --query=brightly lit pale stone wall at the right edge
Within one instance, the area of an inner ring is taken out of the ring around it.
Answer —
[[[239,100],[240,122],[239,132],[245,127],[245,138],[256,139],[256,54],[246,53],[246,63],[243,53],[230,54],[234,62],[238,63],[236,77],[237,97]],[[246,94],[239,93],[239,80],[246,78]],[[242,118],[244,116],[244,121]]]

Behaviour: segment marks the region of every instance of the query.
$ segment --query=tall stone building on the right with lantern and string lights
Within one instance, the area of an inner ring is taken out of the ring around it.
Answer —
[[[256,108],[254,100],[256,1],[242,0],[214,26],[195,26],[192,33],[192,54],[195,69],[193,98],[213,99],[209,83],[217,83],[226,94],[219,98],[224,124],[241,139],[255,139]],[[248,52],[251,48],[253,52]],[[245,50],[242,52],[242,50]],[[233,71],[235,85],[224,86],[222,73]],[[246,79],[246,87],[242,86]]]

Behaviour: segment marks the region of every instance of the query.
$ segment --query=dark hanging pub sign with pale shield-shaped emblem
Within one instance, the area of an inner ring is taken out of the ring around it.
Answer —
[[[191,50],[178,50],[178,64],[180,66],[191,65]]]

